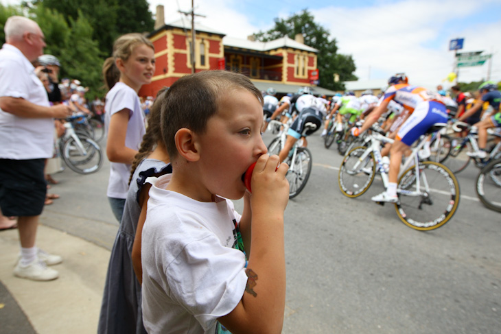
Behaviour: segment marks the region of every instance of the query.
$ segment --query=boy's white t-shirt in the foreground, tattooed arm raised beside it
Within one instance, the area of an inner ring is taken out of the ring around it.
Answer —
[[[213,334],[247,283],[244,253],[234,248],[241,216],[224,198],[198,202],[165,190],[171,177],[147,179],[153,186],[141,243],[143,324],[150,334]]]

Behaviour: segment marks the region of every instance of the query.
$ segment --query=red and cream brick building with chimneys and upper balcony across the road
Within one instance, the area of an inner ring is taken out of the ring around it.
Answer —
[[[163,6],[156,8],[155,30],[148,35],[155,47],[156,70],[152,83],[143,85],[139,95],[154,96],[163,86],[171,86],[179,77],[191,73],[191,23],[179,20],[165,24]],[[273,87],[279,94],[295,93],[311,86],[319,95],[333,91],[316,86],[318,50],[304,44],[303,36],[270,42],[227,37],[223,33],[195,23],[195,71],[226,69],[250,77],[261,91]]]

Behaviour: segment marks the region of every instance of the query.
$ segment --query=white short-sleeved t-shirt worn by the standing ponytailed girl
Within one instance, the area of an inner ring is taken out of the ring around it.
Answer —
[[[110,118],[115,112],[129,110],[129,122],[125,145],[132,150],[139,150],[145,134],[144,113],[141,109],[139,97],[134,89],[123,82],[117,82],[106,94],[104,104],[104,124],[106,134],[110,126]],[[127,198],[130,165],[125,163],[110,163],[110,178],[106,195],[110,198]]]

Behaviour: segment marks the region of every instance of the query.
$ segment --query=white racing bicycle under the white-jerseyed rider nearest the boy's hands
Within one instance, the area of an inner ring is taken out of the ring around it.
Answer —
[[[281,126],[282,129],[277,137],[268,145],[268,154],[278,155],[286,143],[289,125],[276,120],[270,121],[270,124],[273,124],[273,126]],[[307,130],[310,130],[308,125],[305,126],[303,133]],[[299,147],[299,145],[301,145],[300,142],[301,140],[294,144],[288,157],[283,161],[289,165],[289,170],[286,174],[286,178],[289,181],[289,198],[294,198],[303,191],[312,172],[312,152],[310,152],[307,147]]]

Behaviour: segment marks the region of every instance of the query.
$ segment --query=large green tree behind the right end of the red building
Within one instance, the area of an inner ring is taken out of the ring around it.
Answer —
[[[303,34],[305,45],[318,50],[319,86],[341,91],[345,89],[343,81],[358,79],[356,75],[353,75],[356,70],[353,58],[337,53],[336,39],[329,39],[329,31],[315,23],[314,17],[308,10],[302,10],[299,14],[294,14],[288,19],[277,18],[274,21],[275,27],[267,32],[254,34],[255,39],[267,42],[284,36],[294,39],[296,34]],[[339,75],[339,82],[334,82],[334,74],[336,73]]]

